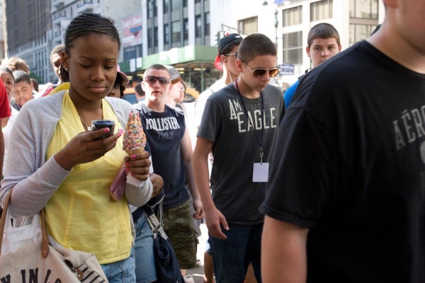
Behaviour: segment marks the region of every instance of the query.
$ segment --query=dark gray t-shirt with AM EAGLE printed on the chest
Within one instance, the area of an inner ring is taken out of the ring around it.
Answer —
[[[285,110],[282,93],[275,86],[267,86],[262,97],[243,98],[242,104],[242,97],[233,85],[222,88],[208,98],[198,130],[198,137],[213,142],[212,200],[233,224],[253,225],[263,221],[258,208],[264,200],[267,183],[252,182],[253,168],[254,163],[260,162],[260,143],[263,162],[270,162],[274,136]]]

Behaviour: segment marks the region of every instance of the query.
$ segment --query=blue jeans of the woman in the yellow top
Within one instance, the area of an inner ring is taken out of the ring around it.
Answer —
[[[101,265],[109,283],[134,283],[135,276],[135,248],[132,247],[130,256],[125,260]]]

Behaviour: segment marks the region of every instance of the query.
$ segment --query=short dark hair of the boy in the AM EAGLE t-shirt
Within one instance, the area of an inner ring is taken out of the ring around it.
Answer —
[[[253,33],[245,37],[239,45],[237,58],[248,64],[261,55],[278,56],[276,45],[266,35]]]

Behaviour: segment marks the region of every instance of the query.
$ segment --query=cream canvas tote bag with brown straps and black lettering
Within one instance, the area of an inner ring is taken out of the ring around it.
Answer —
[[[41,241],[21,246],[11,253],[1,253],[10,197],[11,193],[0,221],[0,282],[108,282],[95,255],[63,247],[54,248],[49,244],[44,211],[40,212],[40,222],[31,224],[41,224]]]

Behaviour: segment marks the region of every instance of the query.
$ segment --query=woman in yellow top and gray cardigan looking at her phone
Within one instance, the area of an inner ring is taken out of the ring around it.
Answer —
[[[120,37],[108,18],[84,13],[72,20],[62,53],[69,89],[21,109],[9,146],[15,157],[6,164],[0,197],[3,203],[13,188],[11,216],[33,216],[44,208],[53,240],[94,253],[109,282],[135,282],[128,204],[145,204],[152,184],[145,186],[150,183],[149,154],[127,156],[123,151],[130,103],[106,97],[117,74],[119,50]],[[90,131],[92,120],[112,120],[115,130]],[[142,197],[111,199],[109,187],[123,163],[125,190],[140,190]]]

